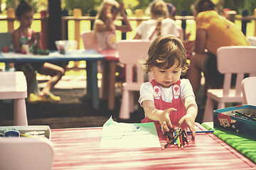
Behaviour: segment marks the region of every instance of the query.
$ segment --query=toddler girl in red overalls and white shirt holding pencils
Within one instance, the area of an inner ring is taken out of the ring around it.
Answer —
[[[184,129],[187,125],[192,137],[196,137],[195,95],[188,79],[180,79],[188,69],[181,40],[173,35],[160,35],[151,43],[148,55],[143,63],[144,72],[153,72],[154,79],[142,84],[140,89],[139,103],[145,112],[142,123],[154,122],[163,132],[169,131],[168,127]]]

